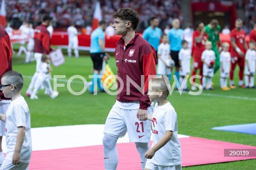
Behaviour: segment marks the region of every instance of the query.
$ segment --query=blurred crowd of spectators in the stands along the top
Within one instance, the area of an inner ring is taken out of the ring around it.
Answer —
[[[118,8],[133,7],[140,14],[140,27],[143,30],[148,27],[150,16],[157,16],[161,19],[160,28],[172,23],[174,18],[183,21],[178,0],[106,0],[100,1],[102,17],[106,22],[113,21],[112,15]],[[12,27],[19,28],[22,21],[33,23],[35,26],[41,23],[42,16],[49,13],[53,18],[54,28],[67,28],[70,21],[75,25],[86,27],[92,24],[95,3],[93,0],[9,0],[6,1],[6,18],[11,22]]]

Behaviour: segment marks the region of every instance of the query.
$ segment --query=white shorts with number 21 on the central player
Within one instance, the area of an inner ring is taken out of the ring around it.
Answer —
[[[130,142],[147,143],[151,137],[151,121],[139,121],[137,118],[138,109],[121,108],[118,104],[113,106],[108,114],[104,133],[113,137],[124,137],[128,132]],[[148,114],[153,113],[153,106],[148,107]]]

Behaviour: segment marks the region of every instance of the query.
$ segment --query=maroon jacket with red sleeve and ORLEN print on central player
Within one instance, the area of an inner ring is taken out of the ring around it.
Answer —
[[[156,75],[156,52],[155,49],[138,34],[126,45],[121,38],[117,42],[115,50],[117,75],[123,80],[124,88],[117,95],[117,100],[121,102],[140,101],[140,109],[146,110],[150,106],[148,98],[148,75]],[[141,75],[144,77],[144,81]],[[133,86],[133,80],[141,89]],[[127,83],[127,84],[126,84]],[[121,84],[117,80],[118,89]],[[142,85],[142,86],[141,86]],[[130,90],[130,94],[129,94]]]

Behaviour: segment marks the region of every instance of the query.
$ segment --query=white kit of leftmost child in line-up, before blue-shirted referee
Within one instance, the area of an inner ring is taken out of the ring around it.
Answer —
[[[157,49],[157,55],[160,55],[163,61],[167,61],[170,58],[170,44],[166,43],[161,43],[158,46]],[[158,63],[157,63],[157,74],[158,75],[170,75],[171,74],[171,69],[167,68],[165,63],[162,60],[158,58]]]

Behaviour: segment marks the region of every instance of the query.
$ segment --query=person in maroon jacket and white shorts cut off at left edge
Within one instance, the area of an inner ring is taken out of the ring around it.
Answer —
[[[10,37],[5,31],[2,24],[0,24],[0,84],[2,75],[8,71],[12,70],[12,46],[10,42]],[[4,84],[6,85],[6,84]],[[0,91],[0,113],[5,114],[7,108],[11,103],[11,98],[4,97],[3,90]],[[0,166],[4,160],[4,152],[2,149],[2,139],[5,135],[5,122],[0,121]]]

